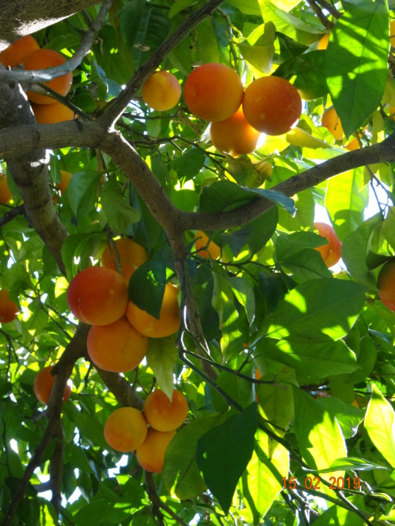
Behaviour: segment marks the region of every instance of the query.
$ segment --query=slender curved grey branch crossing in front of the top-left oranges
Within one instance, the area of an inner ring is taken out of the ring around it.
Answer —
[[[9,70],[0,67],[0,81],[7,82],[8,84],[14,82],[21,82],[23,84],[49,82],[51,79],[62,77],[62,75],[66,75],[66,73],[73,71],[73,69],[81,64],[82,59],[91,49],[95,36],[104,25],[106,15],[112,2],[113,0],[106,0],[103,3],[96,20],[93,21],[89,30],[84,34],[80,47],[75,51],[73,57],[67,60],[67,62],[64,62],[61,66],[56,66],[56,68],[37,69],[34,71],[24,71],[21,69]]]

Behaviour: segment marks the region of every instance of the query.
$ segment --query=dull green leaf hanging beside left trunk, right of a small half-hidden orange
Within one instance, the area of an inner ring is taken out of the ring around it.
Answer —
[[[98,172],[77,172],[71,177],[66,191],[71,210],[77,217],[85,216],[95,208],[100,177]]]

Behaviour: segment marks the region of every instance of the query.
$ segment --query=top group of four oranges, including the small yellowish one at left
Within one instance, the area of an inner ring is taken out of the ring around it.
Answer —
[[[176,77],[157,71],[143,85],[143,100],[154,110],[170,110],[181,96]],[[296,125],[302,112],[298,90],[281,77],[261,77],[244,90],[241,78],[224,64],[195,68],[184,85],[189,110],[211,122],[211,142],[231,155],[252,153],[261,133],[281,135]]]

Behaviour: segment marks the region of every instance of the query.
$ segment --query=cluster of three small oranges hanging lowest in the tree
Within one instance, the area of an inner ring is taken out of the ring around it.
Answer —
[[[139,464],[152,473],[161,473],[165,451],[188,414],[187,399],[173,390],[170,399],[160,389],[152,391],[143,412],[120,408],[112,412],[104,425],[104,438],[116,451],[136,451]]]

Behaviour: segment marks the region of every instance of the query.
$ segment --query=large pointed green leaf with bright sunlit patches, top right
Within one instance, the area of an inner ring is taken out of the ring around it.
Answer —
[[[381,101],[389,47],[385,2],[361,0],[336,21],[325,52],[326,82],[346,137]]]

